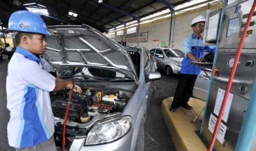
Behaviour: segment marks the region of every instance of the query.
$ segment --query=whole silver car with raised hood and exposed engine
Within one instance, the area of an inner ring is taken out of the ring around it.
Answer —
[[[129,47],[87,25],[50,26],[43,57],[58,77],[73,79],[82,94],[52,92],[55,141],[62,147],[68,97],[67,150],[144,150],[144,121],[156,79],[156,62],[145,48]]]

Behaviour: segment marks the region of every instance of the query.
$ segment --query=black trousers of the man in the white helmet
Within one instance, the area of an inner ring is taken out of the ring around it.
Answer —
[[[197,75],[179,73],[179,82],[173,97],[172,107],[179,107],[186,104],[192,96]]]

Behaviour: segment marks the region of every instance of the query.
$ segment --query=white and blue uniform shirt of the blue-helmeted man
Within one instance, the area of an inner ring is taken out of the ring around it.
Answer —
[[[31,147],[53,135],[55,121],[49,92],[54,88],[55,77],[42,67],[40,59],[17,47],[6,79],[10,146]]]

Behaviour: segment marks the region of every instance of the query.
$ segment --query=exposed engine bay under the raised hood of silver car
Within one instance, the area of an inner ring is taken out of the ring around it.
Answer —
[[[75,137],[86,137],[89,129],[97,121],[118,113],[121,114],[132,96],[132,92],[121,90],[82,89],[81,94],[73,92],[70,102],[66,129],[66,149],[70,148]],[[57,147],[61,148],[69,90],[52,92],[50,97],[56,122],[55,143]]]

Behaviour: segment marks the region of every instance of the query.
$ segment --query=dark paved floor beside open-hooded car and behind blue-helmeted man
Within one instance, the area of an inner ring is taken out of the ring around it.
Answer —
[[[7,56],[0,60],[0,150],[14,150],[8,145],[7,123],[9,121],[9,111],[6,108],[6,75],[7,75]],[[145,133],[156,142],[160,150],[175,150],[175,146],[168,133],[167,126],[161,115],[161,102],[167,97],[173,96],[178,76],[167,77],[162,74],[162,78],[157,81],[156,92],[152,97],[145,122]],[[155,149],[152,149],[155,150]]]

